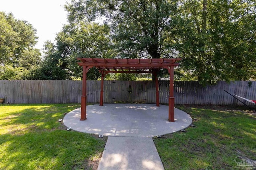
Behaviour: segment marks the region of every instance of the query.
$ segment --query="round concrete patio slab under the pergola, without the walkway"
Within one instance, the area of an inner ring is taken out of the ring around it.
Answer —
[[[87,120],[80,121],[81,109],[69,112],[64,125],[75,131],[104,136],[154,137],[174,133],[192,123],[190,115],[174,110],[175,122],[168,121],[168,106],[156,104],[104,104],[87,106]]]

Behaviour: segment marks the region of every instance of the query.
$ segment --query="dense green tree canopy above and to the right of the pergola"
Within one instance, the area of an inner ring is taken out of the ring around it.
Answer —
[[[117,57],[181,57],[178,77],[201,84],[256,76],[255,9],[252,0],[72,0],[66,5],[71,23],[105,19]]]

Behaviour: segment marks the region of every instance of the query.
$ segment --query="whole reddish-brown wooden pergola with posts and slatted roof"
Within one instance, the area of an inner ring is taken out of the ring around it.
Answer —
[[[180,58],[176,59],[97,59],[97,58],[77,58],[83,67],[82,80],[82,96],[81,96],[81,119],[86,120],[86,75],[90,68],[96,67],[101,73],[101,91],[100,106],[103,106],[103,86],[106,74],[113,73],[151,73],[156,78],[156,106],[159,106],[159,90],[158,90],[158,71],[166,68],[170,74],[170,90],[169,90],[169,114],[168,121],[174,122],[174,67],[180,63]]]

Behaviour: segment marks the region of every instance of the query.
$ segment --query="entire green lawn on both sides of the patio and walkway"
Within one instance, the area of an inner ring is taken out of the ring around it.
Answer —
[[[97,169],[106,144],[58,122],[79,104],[0,105],[0,170]],[[244,107],[176,106],[196,127],[154,138],[166,170],[230,170],[256,160],[256,115]]]

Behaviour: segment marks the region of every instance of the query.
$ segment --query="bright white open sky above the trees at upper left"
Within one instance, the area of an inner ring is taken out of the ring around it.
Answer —
[[[44,42],[54,41],[56,33],[67,23],[64,5],[68,0],[0,0],[0,11],[14,18],[26,20],[37,30],[38,43],[35,48],[42,50]]]

